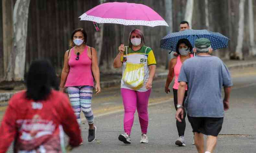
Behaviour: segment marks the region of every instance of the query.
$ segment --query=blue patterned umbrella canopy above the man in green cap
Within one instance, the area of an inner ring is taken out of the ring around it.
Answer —
[[[186,38],[190,41],[191,45],[194,47],[194,41],[198,38],[207,38],[211,41],[211,46],[213,50],[226,48],[228,45],[229,38],[208,30],[184,30],[180,32],[170,33],[161,39],[160,48],[167,49],[169,51],[176,52],[176,45],[178,41],[182,38]]]

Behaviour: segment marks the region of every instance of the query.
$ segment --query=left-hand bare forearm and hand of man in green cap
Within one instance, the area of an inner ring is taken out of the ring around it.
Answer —
[[[181,106],[183,105],[183,98],[185,95],[186,87],[187,87],[187,83],[184,81],[180,81],[180,85],[179,85],[179,89],[178,89],[178,105],[181,105]],[[183,119],[183,113],[184,113],[184,110],[182,107],[177,109],[176,119],[179,122],[181,122],[181,119]]]

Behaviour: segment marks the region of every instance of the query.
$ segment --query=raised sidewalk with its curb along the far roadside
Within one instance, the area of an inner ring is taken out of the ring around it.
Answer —
[[[228,69],[237,69],[243,67],[253,67],[256,66],[256,57],[248,59],[248,60],[223,60],[227,65]],[[122,72],[121,68],[116,70],[116,74],[105,74],[101,75],[101,88],[105,87],[113,87],[120,85]],[[164,67],[157,67],[157,72],[154,79],[166,78],[168,75],[168,70],[164,69]],[[0,90],[0,106],[7,105],[6,101],[8,101],[14,93],[24,89],[24,87],[18,87],[14,90]],[[5,104],[2,103],[5,101]]]

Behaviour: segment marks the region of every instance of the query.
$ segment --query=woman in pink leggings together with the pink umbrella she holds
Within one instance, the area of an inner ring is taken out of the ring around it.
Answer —
[[[79,18],[96,23],[151,27],[168,26],[165,20],[152,8],[143,4],[126,2],[110,2],[97,5]],[[136,108],[142,129],[140,142],[148,143],[146,135],[148,126],[147,104],[152,80],[156,72],[156,59],[151,48],[144,46],[144,44],[143,33],[134,29],[129,35],[129,46],[120,45],[119,54],[114,59],[114,67],[122,67],[123,70],[121,92],[124,105],[125,133],[119,136],[119,140],[126,144],[131,143],[130,133]]]

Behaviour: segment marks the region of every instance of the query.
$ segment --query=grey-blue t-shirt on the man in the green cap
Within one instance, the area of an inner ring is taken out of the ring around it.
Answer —
[[[188,85],[185,108],[191,117],[223,117],[221,88],[233,85],[227,66],[216,56],[195,56],[183,62],[178,82]]]

